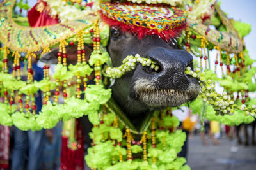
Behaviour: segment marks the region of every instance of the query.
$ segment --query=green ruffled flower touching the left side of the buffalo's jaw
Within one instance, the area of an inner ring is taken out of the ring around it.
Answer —
[[[111,89],[104,89],[103,85],[88,85],[85,96],[91,103],[106,103],[111,97]]]

